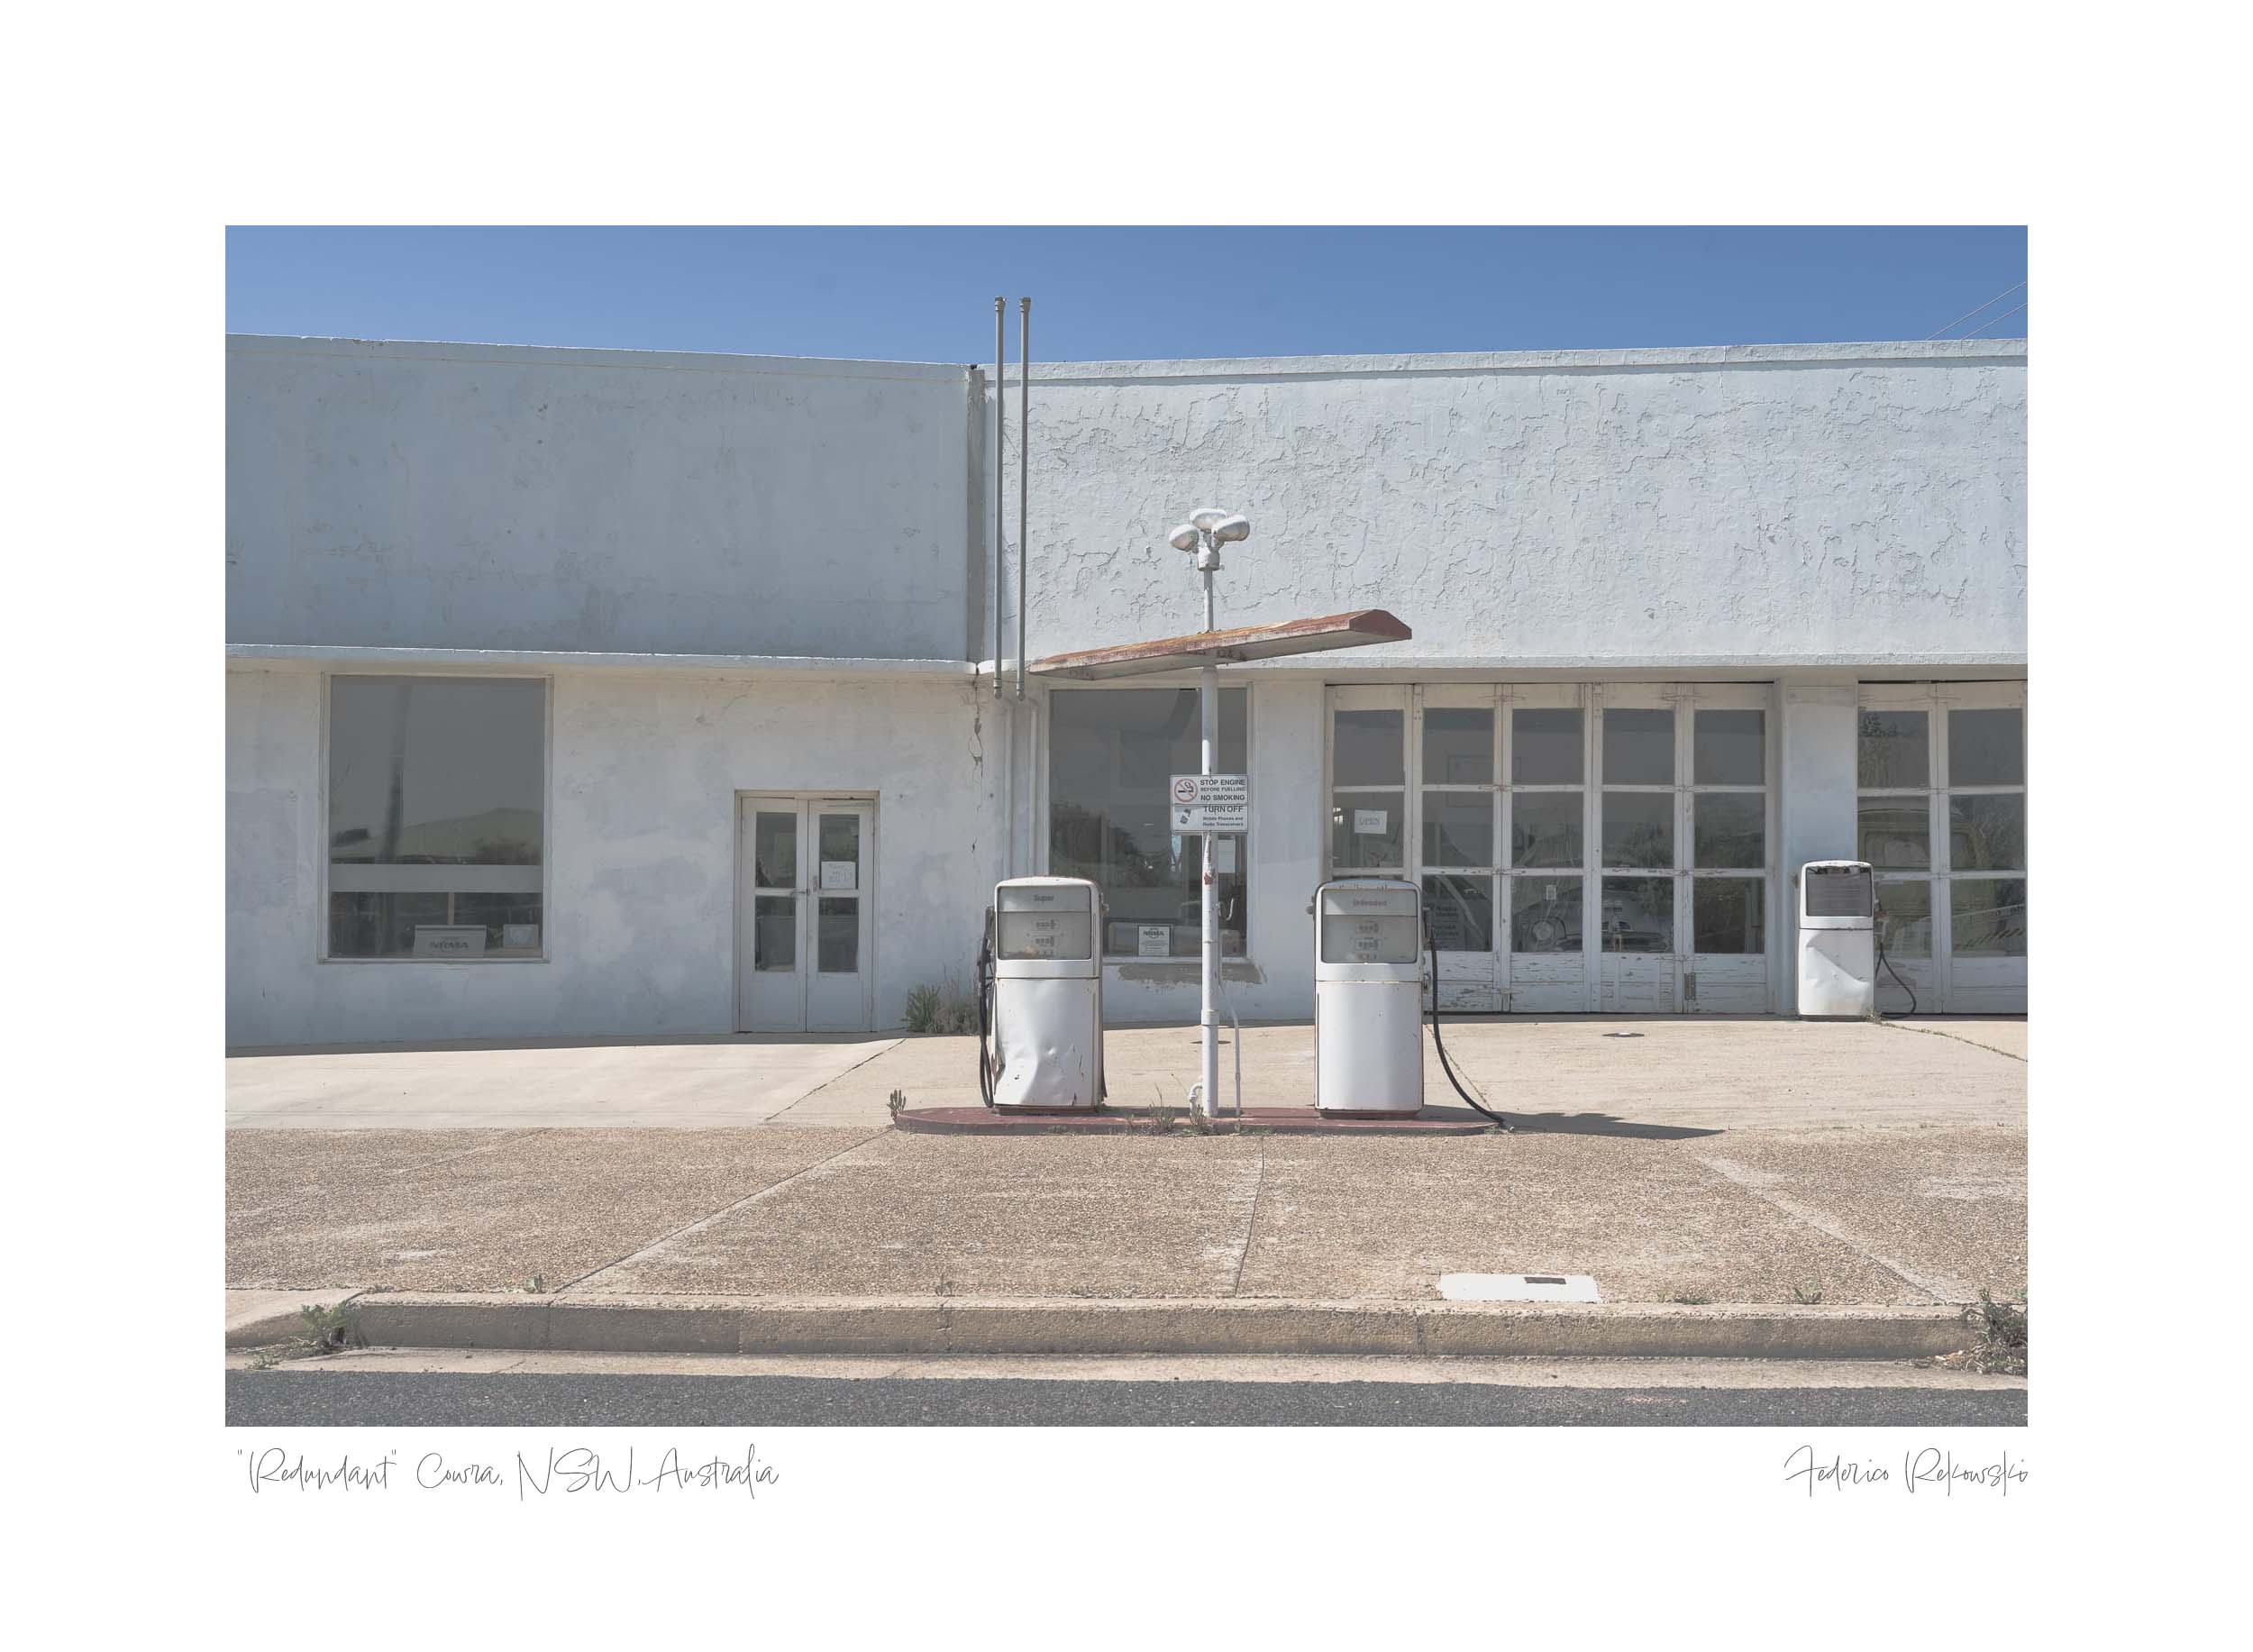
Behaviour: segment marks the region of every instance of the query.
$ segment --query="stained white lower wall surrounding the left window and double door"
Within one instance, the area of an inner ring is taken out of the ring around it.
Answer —
[[[876,1023],[967,987],[1000,739],[967,678],[552,678],[547,962],[315,962],[320,672],[228,672],[228,1043],[734,1028],[734,793],[874,791]]]

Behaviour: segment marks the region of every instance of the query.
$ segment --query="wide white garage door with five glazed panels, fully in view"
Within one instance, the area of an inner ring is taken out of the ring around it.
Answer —
[[[1332,687],[1332,877],[1422,881],[1449,1010],[1766,1014],[1769,699]]]

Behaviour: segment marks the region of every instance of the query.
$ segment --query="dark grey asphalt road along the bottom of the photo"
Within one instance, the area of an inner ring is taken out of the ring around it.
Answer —
[[[2023,1427],[2025,1388],[230,1370],[237,1427]]]

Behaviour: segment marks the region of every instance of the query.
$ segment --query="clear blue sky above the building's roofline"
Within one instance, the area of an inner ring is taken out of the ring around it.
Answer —
[[[2023,228],[228,232],[228,331],[1036,361],[1924,338]],[[2023,338],[2012,293],[1953,329]]]

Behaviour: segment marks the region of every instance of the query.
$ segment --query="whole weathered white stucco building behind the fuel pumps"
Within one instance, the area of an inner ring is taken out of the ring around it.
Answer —
[[[2025,1007],[2023,343],[1034,367],[1030,548],[1012,370],[998,640],[987,379],[232,338],[228,1041],[897,1028],[1050,870],[1192,1023],[1194,681],[1018,701],[1014,615],[1194,631],[1199,505],[1223,627],[1415,631],[1223,669],[1241,1016],[1347,870],[1460,1010],[1789,1014],[1829,856],[1920,1007]]]

